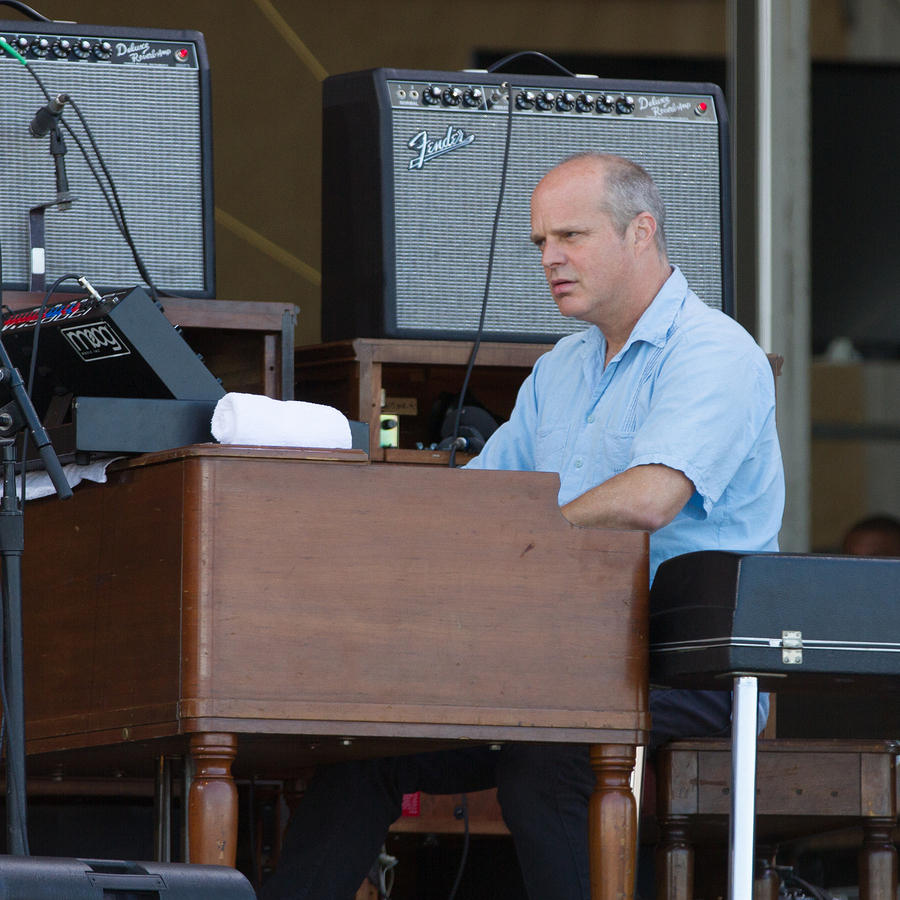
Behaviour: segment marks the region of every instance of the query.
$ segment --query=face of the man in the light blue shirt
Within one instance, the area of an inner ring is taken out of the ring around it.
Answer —
[[[559,311],[601,328],[623,300],[633,259],[631,226],[620,235],[602,201],[602,176],[582,161],[554,169],[531,198],[531,239]]]

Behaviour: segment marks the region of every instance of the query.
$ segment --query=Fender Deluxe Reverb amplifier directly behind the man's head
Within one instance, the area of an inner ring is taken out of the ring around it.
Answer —
[[[373,69],[323,84],[322,337],[467,339],[484,293],[492,340],[584,327],[556,309],[530,241],[531,191],[572,153],[645,166],[668,208],[672,262],[733,314],[728,119],[711,84]]]

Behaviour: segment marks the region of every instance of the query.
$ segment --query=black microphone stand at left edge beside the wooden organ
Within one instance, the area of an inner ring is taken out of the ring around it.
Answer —
[[[3,592],[3,713],[6,718],[6,836],[7,850],[28,855],[25,803],[25,684],[22,662],[22,554],[25,521],[16,494],[16,437],[28,428],[47,474],[61,500],[72,496],[62,466],[41,425],[22,383],[0,340],[0,391],[6,402],[0,407],[0,462],[3,498],[0,500],[0,561]],[[24,472],[23,472],[24,479]]]

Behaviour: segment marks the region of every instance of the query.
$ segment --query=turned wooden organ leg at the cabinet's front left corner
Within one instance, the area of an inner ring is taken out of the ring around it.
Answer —
[[[189,862],[234,867],[237,850],[237,787],[231,764],[237,735],[191,735],[194,777],[188,799]]]

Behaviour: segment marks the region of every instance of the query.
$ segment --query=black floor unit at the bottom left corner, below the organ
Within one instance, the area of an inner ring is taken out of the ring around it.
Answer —
[[[235,869],[179,863],[0,856],[0,898],[28,900],[252,900]]]

